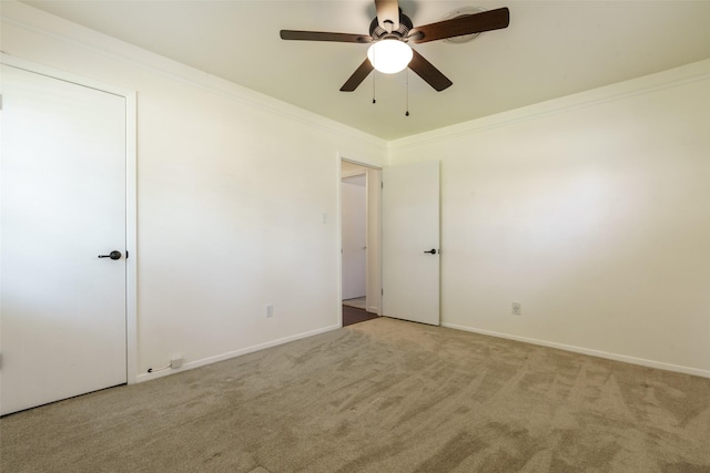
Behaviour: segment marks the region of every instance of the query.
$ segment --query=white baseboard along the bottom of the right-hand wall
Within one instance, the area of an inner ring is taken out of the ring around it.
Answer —
[[[676,372],[684,373],[684,374],[692,374],[692,376],[697,376],[697,377],[701,377],[701,378],[710,378],[710,371],[708,371],[708,370],[700,370],[700,369],[697,369],[697,368],[689,368],[689,367],[683,367],[683,366],[680,366],[680,364],[665,363],[662,361],[647,360],[645,358],[636,358],[636,357],[629,357],[629,356],[626,356],[626,354],[611,353],[611,352],[608,352],[608,351],[600,351],[600,350],[594,350],[594,349],[589,349],[589,348],[575,347],[575,346],[571,346],[571,345],[556,343],[556,342],[552,342],[552,341],[538,340],[538,339],[527,338],[527,337],[518,337],[518,336],[515,336],[515,335],[503,333],[503,332],[497,332],[497,331],[491,331],[491,330],[480,330],[480,329],[475,329],[473,327],[459,326],[459,325],[456,325],[456,323],[442,322],[442,327],[446,327],[446,328],[449,328],[449,329],[456,329],[456,330],[469,331],[469,332],[474,332],[474,333],[487,335],[487,336],[490,336],[490,337],[505,338],[505,339],[508,339],[508,340],[516,340],[516,341],[521,341],[521,342],[525,342],[525,343],[539,345],[539,346],[542,346],[542,347],[556,348],[556,349],[559,349],[559,350],[571,351],[571,352],[575,352],[575,353],[589,354],[590,357],[605,358],[605,359],[608,359],[608,360],[621,361],[621,362],[625,362],[625,363],[638,364],[638,366],[647,367],[647,368],[656,368],[656,369],[660,369],[660,370],[676,371]]]

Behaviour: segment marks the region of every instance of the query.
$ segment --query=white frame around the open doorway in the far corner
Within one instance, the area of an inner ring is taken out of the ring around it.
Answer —
[[[337,304],[338,304],[338,321],[339,321],[339,326],[343,327],[343,195],[342,195],[342,163],[346,162],[346,163],[351,163],[351,164],[355,164],[357,166],[362,166],[365,167],[366,169],[373,169],[373,171],[378,171],[379,172],[379,179],[382,183],[382,167],[374,165],[374,164],[368,164],[366,162],[362,162],[362,161],[356,161],[349,157],[346,157],[344,154],[342,153],[337,153],[337,241],[338,241],[338,247],[337,247]],[[369,188],[369,186],[373,183],[369,182],[369,178],[367,179],[367,188]],[[376,184],[376,188],[377,188],[377,202],[374,204],[377,206],[377,255],[376,255],[376,259],[378,261],[378,270],[376,271],[378,274],[378,278],[379,278],[379,286],[381,286],[381,291],[382,291],[382,184]],[[367,192],[367,194],[369,194],[369,192]],[[366,196],[366,205],[367,205],[367,215],[369,216],[371,214],[371,205],[373,205],[373,203],[369,199],[369,195]],[[367,217],[367,219],[369,220],[369,217]],[[367,232],[368,234],[368,238],[369,238],[369,232]],[[369,240],[367,240],[367,250],[366,250],[366,258],[367,260],[369,259],[369,255],[371,255],[371,243]],[[368,278],[369,271],[367,270],[369,264],[366,264],[366,278]],[[367,284],[368,281],[366,281],[366,290],[367,290],[367,286],[369,286]],[[379,298],[379,304],[377,305],[377,315],[382,316],[382,295]]]

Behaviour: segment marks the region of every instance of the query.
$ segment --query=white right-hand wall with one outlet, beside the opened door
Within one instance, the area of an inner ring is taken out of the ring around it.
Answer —
[[[442,160],[443,323],[710,376],[709,123],[704,61],[392,143]]]

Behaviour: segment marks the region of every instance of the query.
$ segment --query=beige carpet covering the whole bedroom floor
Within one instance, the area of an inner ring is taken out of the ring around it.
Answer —
[[[710,472],[710,380],[379,318],[0,420],[13,472]]]

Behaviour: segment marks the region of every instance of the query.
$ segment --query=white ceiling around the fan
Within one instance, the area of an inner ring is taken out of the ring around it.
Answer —
[[[408,74],[338,89],[367,45],[283,41],[281,29],[368,33],[374,1],[94,0],[24,3],[175,61],[394,140],[710,58],[710,1],[412,1],[416,25],[462,7],[508,7],[510,25],[415,49],[454,85]]]

